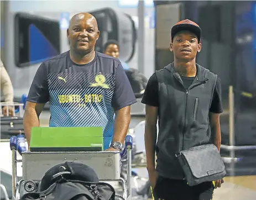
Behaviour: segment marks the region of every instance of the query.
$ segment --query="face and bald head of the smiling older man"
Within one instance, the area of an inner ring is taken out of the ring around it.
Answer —
[[[70,28],[67,29],[70,48],[79,52],[94,50],[99,35],[96,19],[87,18],[85,15],[79,15],[71,20]]]

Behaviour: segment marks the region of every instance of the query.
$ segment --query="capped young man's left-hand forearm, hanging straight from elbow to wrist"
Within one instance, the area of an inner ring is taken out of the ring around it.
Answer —
[[[155,169],[156,125],[145,126],[145,150],[148,171]]]

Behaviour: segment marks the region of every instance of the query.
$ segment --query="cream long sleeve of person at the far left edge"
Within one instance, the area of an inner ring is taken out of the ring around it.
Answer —
[[[4,68],[3,62],[1,60],[1,91],[4,96],[4,102],[13,102],[13,86],[11,78],[9,77],[6,69]]]

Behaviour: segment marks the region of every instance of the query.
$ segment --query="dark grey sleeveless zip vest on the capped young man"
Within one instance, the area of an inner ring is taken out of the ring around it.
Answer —
[[[196,67],[196,78],[188,90],[173,63],[156,71],[160,104],[156,170],[163,177],[184,179],[175,154],[210,142],[209,110],[217,75]]]

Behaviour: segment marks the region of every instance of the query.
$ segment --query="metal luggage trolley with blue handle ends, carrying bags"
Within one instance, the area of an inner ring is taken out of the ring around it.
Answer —
[[[132,199],[132,146],[133,138],[126,136],[125,147],[120,151],[60,151],[60,152],[30,152],[22,153],[22,160],[17,160],[17,138],[10,139],[12,150],[12,199],[18,200],[25,193],[35,192],[46,171],[51,167],[69,162],[86,164],[98,175],[101,182],[119,181],[122,183],[122,198]],[[127,159],[123,159],[127,154]],[[127,181],[121,178],[121,164],[127,161]],[[23,177],[17,181],[17,162],[22,162]]]

